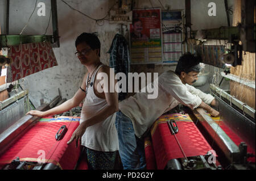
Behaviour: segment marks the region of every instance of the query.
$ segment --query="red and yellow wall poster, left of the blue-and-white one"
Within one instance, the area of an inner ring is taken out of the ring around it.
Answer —
[[[162,25],[160,9],[133,10],[130,24],[131,64],[162,62]]]

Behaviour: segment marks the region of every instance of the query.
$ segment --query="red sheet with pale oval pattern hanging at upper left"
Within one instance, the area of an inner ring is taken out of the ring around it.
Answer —
[[[20,44],[9,48],[8,57],[11,59],[11,66],[7,71],[7,82],[14,82],[58,65],[49,42]]]

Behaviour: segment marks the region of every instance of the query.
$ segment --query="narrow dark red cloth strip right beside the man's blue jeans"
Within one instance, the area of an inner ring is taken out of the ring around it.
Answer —
[[[156,170],[155,154],[150,137],[144,139],[144,150],[147,170]]]

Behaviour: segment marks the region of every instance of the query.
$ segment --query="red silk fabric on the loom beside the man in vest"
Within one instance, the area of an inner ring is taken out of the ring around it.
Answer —
[[[74,169],[80,156],[80,146],[76,141],[67,144],[79,126],[79,117],[57,117],[40,119],[26,134],[19,138],[8,150],[0,155],[0,166],[11,163],[16,157],[20,161],[38,162],[45,152],[46,163],[59,165],[61,169]],[[62,140],[56,141],[55,134],[62,125],[68,128]]]

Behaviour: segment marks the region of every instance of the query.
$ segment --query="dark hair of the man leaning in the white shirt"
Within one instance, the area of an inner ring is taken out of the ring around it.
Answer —
[[[200,72],[200,61],[200,56],[195,56],[194,54],[191,54],[189,52],[184,53],[177,63],[175,73],[180,75],[181,71],[184,71],[185,73],[189,73],[190,71]]]

